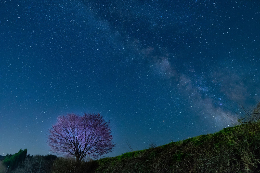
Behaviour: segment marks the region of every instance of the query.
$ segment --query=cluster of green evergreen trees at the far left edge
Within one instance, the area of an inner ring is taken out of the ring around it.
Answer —
[[[27,156],[27,149],[20,149],[17,153],[14,155],[7,154],[3,160],[3,164],[10,169],[15,169],[17,166],[21,165],[24,159]]]

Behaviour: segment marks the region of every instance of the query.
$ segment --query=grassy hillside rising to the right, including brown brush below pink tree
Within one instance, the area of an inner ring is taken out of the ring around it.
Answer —
[[[257,121],[155,148],[82,162],[77,171],[259,172],[259,163],[260,121]],[[52,172],[67,172],[73,164],[73,161],[59,158],[54,162]]]

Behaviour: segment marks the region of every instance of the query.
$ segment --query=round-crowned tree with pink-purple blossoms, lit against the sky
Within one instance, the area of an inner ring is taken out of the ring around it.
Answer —
[[[47,144],[50,150],[75,156],[77,161],[86,156],[97,158],[111,152],[115,146],[109,122],[100,114],[59,116],[49,133]]]

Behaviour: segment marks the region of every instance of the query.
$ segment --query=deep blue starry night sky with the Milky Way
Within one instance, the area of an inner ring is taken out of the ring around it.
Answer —
[[[260,101],[258,0],[0,0],[0,155],[100,113],[106,157],[213,133]],[[232,107],[231,107],[232,106]]]

